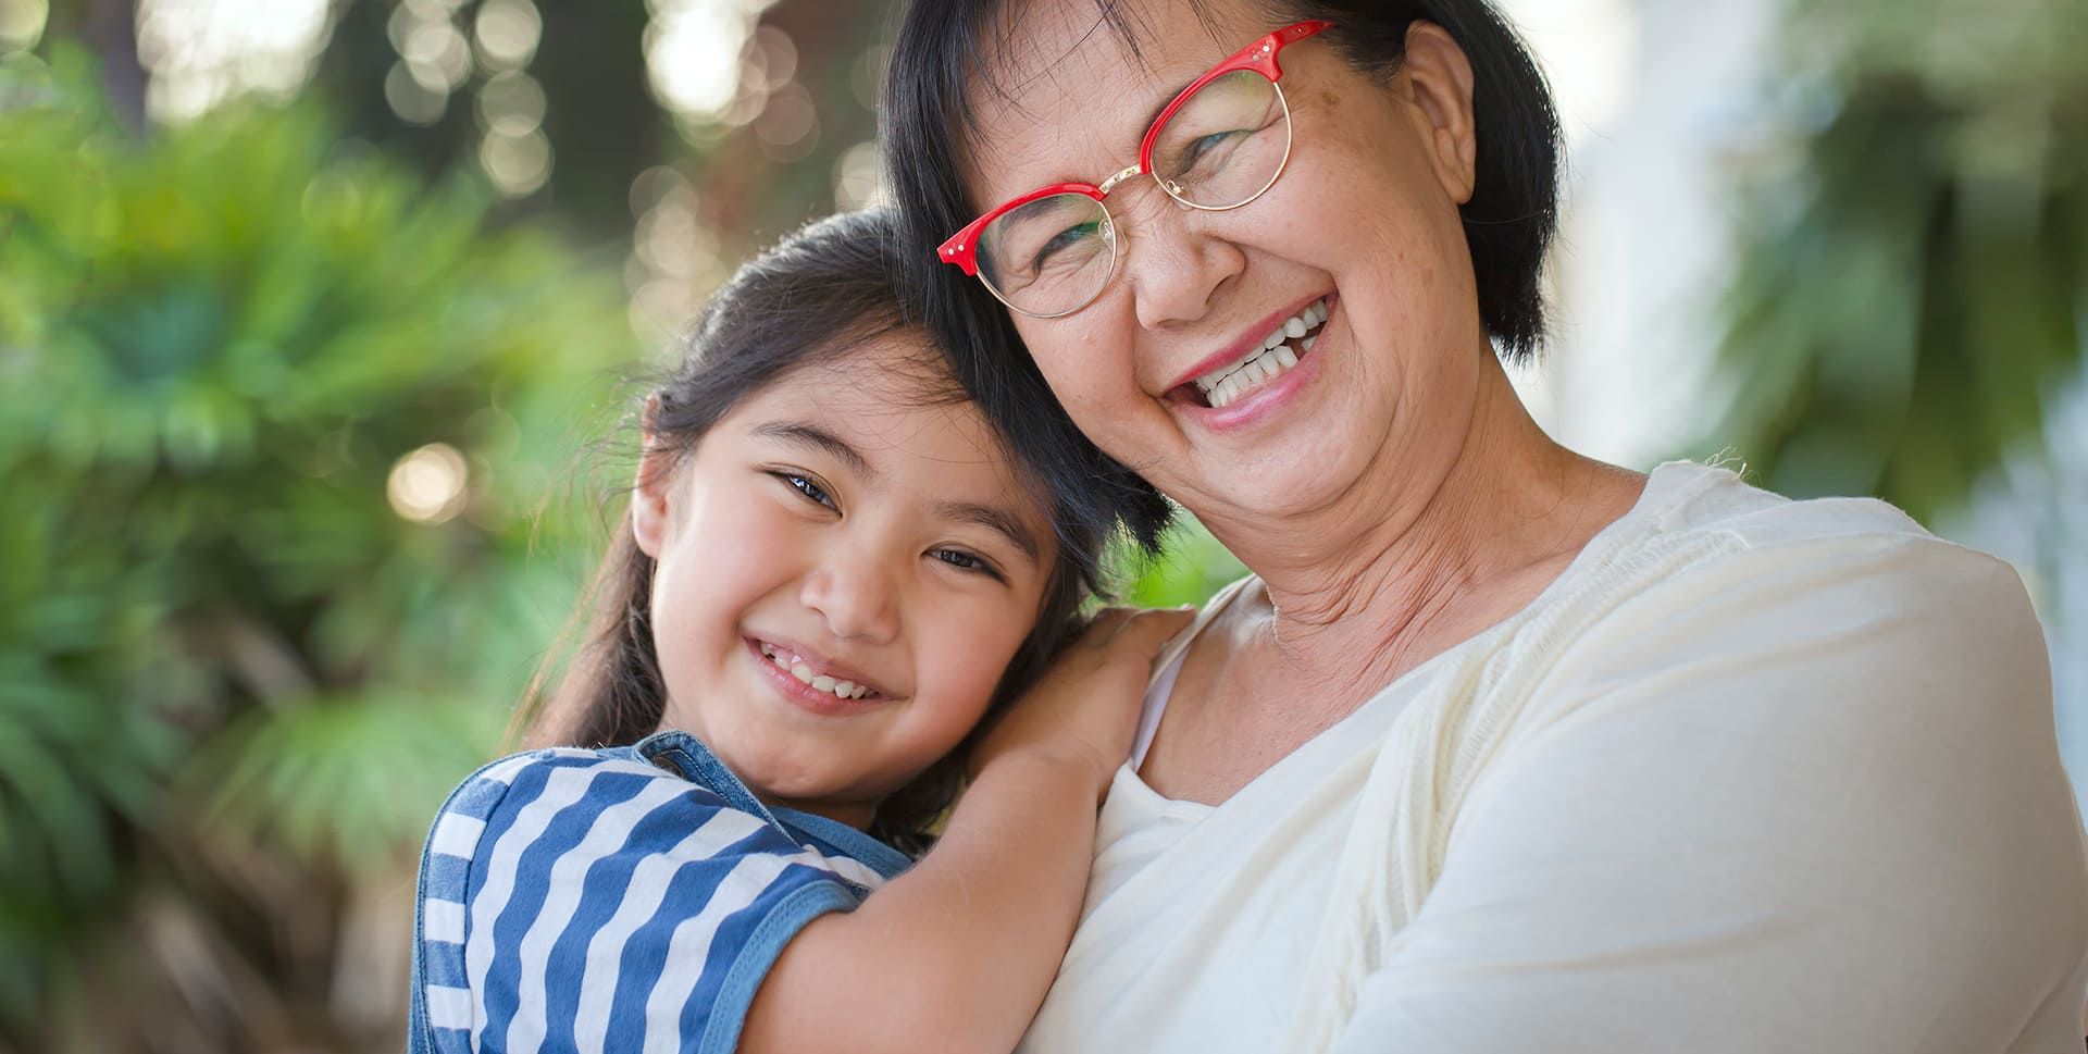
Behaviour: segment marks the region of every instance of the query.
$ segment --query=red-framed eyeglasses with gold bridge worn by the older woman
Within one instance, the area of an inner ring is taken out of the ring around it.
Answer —
[[[1169,198],[1203,211],[1238,209],[1276,184],[1290,161],[1290,104],[1276,83],[1284,75],[1276,56],[1332,25],[1286,25],[1240,48],[1167,102],[1136,165],[1100,186],[1054,184],[1000,202],[944,242],[942,261],[1036,319],[1088,307],[1117,271],[1121,238],[1102,198],[1121,182],[1150,175]]]

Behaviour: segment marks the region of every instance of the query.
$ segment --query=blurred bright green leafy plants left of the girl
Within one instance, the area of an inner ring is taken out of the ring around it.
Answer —
[[[635,340],[614,273],[309,106],[138,142],[15,54],[0,157],[6,1046],[157,872],[411,858],[564,620],[532,511]],[[434,442],[468,484],[416,522]]]

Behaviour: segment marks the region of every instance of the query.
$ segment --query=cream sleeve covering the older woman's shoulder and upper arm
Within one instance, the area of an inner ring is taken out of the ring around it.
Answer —
[[[2071,1052],[2088,864],[2015,572],[1746,547],[1616,607],[1478,776],[1338,1052]]]

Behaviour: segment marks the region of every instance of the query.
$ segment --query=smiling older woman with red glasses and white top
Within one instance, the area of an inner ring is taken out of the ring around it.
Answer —
[[[885,104],[981,403],[1253,570],[1023,1050],[2080,1050],[2021,582],[1533,424],[1558,127],[1482,0],[915,0]]]

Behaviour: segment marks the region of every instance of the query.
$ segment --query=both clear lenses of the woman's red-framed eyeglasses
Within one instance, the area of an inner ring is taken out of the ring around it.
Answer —
[[[1290,115],[1276,81],[1240,69],[1211,79],[1153,140],[1153,175],[1184,205],[1247,205],[1290,154]],[[1092,301],[1115,269],[1117,230],[1100,200],[1052,194],[979,232],[979,278],[1017,311],[1063,315]]]

